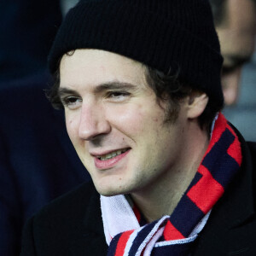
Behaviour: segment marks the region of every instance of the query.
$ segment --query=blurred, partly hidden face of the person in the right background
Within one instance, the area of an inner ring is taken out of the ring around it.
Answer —
[[[253,54],[255,21],[252,0],[227,0],[224,19],[216,27],[224,56],[222,83],[227,105],[236,102],[241,66]]]

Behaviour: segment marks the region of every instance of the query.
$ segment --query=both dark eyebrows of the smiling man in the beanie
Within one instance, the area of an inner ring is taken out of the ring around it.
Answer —
[[[96,85],[96,88],[94,89],[94,93],[100,93],[104,90],[137,90],[137,85],[126,83],[126,82],[119,82],[119,81],[113,81],[103,84]],[[58,89],[58,96],[63,96],[67,94],[74,94],[78,95],[79,93],[76,90],[68,89],[68,88],[61,88]]]

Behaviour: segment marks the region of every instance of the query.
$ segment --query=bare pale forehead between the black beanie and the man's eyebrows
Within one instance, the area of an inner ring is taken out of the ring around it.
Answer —
[[[122,55],[99,49],[76,49],[63,55],[60,87],[94,86],[110,81],[145,84],[145,67]]]

